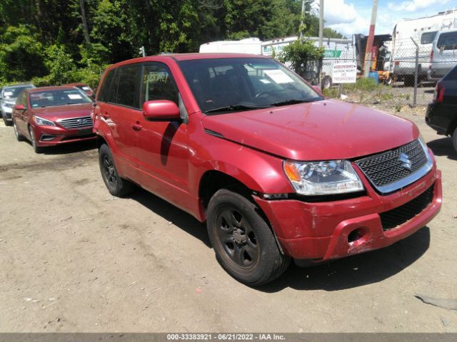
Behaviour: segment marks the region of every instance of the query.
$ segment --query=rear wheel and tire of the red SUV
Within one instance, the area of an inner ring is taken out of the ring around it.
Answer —
[[[111,150],[106,144],[99,149],[99,165],[101,177],[111,195],[123,197],[134,190],[131,182],[119,176]]]

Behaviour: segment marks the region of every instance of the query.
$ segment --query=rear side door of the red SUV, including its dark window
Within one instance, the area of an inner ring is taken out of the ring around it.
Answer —
[[[111,150],[121,176],[136,180],[139,167],[135,148],[137,135],[134,128],[139,108],[141,65],[132,64],[117,68],[109,81],[107,94],[101,94],[98,115],[106,123],[111,135]],[[108,78],[109,76],[107,76]]]

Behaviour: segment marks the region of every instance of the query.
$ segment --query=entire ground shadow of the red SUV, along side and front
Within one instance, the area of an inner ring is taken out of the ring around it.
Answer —
[[[130,198],[167,221],[173,222],[176,227],[211,248],[205,224],[191,215],[146,190],[138,189]],[[281,291],[287,287],[298,290],[338,291],[373,284],[406,269],[426,252],[429,244],[430,230],[424,227],[411,237],[390,247],[339,259],[328,264],[301,268],[292,262],[283,276],[271,284],[256,289],[268,293]],[[221,272],[224,272],[222,268]]]

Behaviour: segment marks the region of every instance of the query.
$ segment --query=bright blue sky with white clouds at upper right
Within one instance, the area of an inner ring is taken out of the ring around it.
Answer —
[[[348,38],[353,33],[368,34],[372,0],[323,0],[323,6],[326,27]],[[375,34],[392,34],[398,21],[431,16],[453,8],[457,9],[456,0],[378,0]]]

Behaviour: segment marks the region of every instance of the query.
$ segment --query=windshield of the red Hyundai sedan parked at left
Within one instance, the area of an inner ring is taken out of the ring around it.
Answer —
[[[77,105],[79,103],[91,103],[92,100],[77,89],[46,90],[30,94],[32,108],[51,107],[54,105]]]

